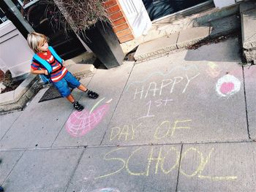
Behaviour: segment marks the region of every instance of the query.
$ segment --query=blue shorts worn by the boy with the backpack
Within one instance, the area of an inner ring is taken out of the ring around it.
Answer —
[[[70,72],[67,72],[61,80],[53,82],[53,85],[61,93],[61,96],[67,97],[71,93],[70,88],[77,88],[81,83]]]

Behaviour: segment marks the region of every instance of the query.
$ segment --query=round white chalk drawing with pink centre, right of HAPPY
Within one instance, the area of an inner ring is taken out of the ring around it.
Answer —
[[[241,82],[230,74],[225,74],[216,84],[216,91],[219,96],[232,96],[240,91]]]

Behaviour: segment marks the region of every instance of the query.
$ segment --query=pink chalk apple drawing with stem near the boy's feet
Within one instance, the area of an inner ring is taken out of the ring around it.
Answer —
[[[105,104],[97,107],[104,99],[105,98],[99,100],[97,104],[91,108],[90,112],[86,109],[80,112],[72,112],[67,120],[67,123],[65,124],[67,132],[72,137],[82,137],[101,122],[108,112],[110,101],[112,101],[112,99],[110,99],[109,101],[105,102]],[[96,107],[97,109],[94,110]]]

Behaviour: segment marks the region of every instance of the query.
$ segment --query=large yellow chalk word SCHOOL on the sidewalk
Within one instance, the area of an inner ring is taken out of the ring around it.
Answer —
[[[111,155],[118,150],[126,154],[127,149],[128,149],[127,147],[121,147],[114,150],[110,150],[110,152],[106,153],[103,159],[105,161],[113,161],[113,164],[115,163],[118,167],[116,168],[115,171],[107,174],[103,174],[99,177],[95,177],[94,179],[98,180],[100,178],[109,177],[111,175],[118,174],[122,170],[126,171],[129,175],[144,176],[144,177],[148,177],[151,174],[152,169],[153,169],[152,174],[159,174],[159,173],[170,174],[171,172],[173,172],[174,169],[178,169],[178,167],[180,167],[180,173],[186,177],[198,177],[203,180],[211,180],[211,181],[230,181],[230,180],[237,179],[236,176],[212,177],[210,175],[206,176],[202,174],[203,170],[206,169],[206,166],[208,165],[208,162],[211,158],[211,153],[214,152],[214,148],[210,150],[210,152],[205,158],[203,153],[200,152],[200,150],[197,150],[195,147],[189,147],[189,149],[187,149],[181,155],[181,162],[179,165],[178,162],[180,159],[180,152],[176,149],[176,147],[168,147],[167,150],[163,150],[163,147],[159,147],[159,149],[157,150],[158,152],[157,157],[154,157],[154,152],[156,149],[154,147],[151,147],[150,152],[148,153],[148,158],[146,159],[147,163],[142,164],[145,169],[145,171],[143,172],[135,172],[135,170],[131,169],[130,167],[131,164],[129,163],[131,159],[134,157],[135,153],[139,153],[141,151],[142,147],[138,147],[137,149],[133,150],[132,153],[130,153],[128,158],[111,157]],[[192,172],[192,174],[189,174],[188,171],[183,169],[184,158],[189,158],[189,153],[197,153],[197,155],[200,156],[199,165],[197,166],[195,171]],[[169,164],[169,168],[165,167],[166,163]]]

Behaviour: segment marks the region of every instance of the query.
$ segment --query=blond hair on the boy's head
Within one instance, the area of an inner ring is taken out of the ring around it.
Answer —
[[[40,50],[38,49],[39,43],[41,43],[42,40],[45,40],[48,42],[48,37],[46,37],[44,34],[31,32],[31,34],[28,34],[28,37],[26,38],[26,40],[31,50],[33,50],[34,53],[39,53],[40,52]]]

